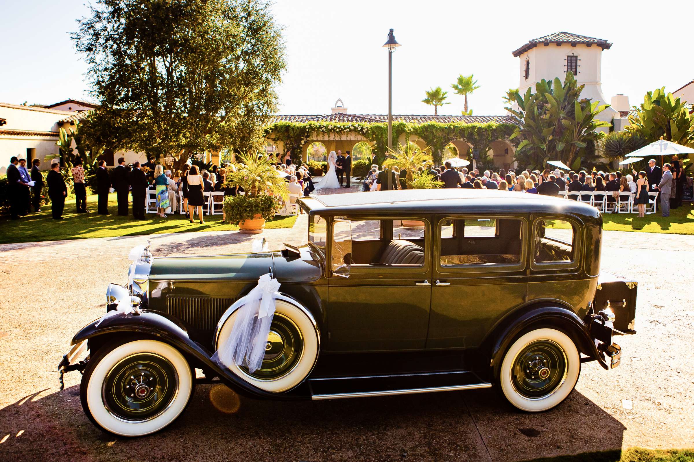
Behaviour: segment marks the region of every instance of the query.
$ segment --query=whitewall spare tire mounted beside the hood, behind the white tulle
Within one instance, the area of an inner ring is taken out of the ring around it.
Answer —
[[[226,349],[237,314],[238,309],[219,328],[215,345],[218,351]],[[287,391],[311,373],[318,359],[319,344],[318,329],[310,315],[290,302],[275,300],[275,315],[260,368],[253,373],[235,363],[228,368],[245,382],[265,391]]]

